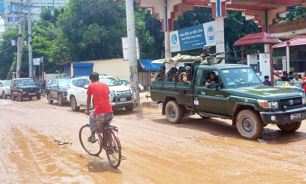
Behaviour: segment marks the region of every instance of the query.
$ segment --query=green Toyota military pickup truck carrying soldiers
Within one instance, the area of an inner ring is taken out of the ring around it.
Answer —
[[[231,119],[247,139],[262,137],[263,127],[276,124],[282,131],[296,131],[306,118],[303,93],[264,86],[248,65],[218,64],[210,57],[187,57],[155,60],[151,64],[192,66],[192,84],[153,81],[151,99],[162,102],[162,115],[170,123],[198,114],[203,119]],[[210,74],[216,74],[215,81]],[[205,85],[211,80],[210,85]],[[205,120],[203,120],[205,121]]]

